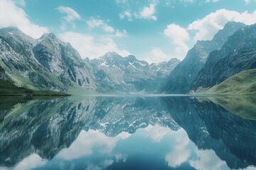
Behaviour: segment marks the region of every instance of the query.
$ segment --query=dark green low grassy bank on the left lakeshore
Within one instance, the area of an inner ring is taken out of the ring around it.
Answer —
[[[68,96],[58,91],[35,91],[0,80],[0,96]]]

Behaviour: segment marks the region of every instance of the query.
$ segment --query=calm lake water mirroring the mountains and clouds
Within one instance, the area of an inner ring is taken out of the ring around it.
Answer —
[[[0,169],[256,169],[256,99],[0,98]]]

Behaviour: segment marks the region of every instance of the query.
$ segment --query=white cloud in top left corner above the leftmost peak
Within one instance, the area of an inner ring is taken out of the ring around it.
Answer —
[[[17,2],[17,1],[16,1]],[[22,3],[22,1],[19,1]],[[25,5],[25,4],[21,4]],[[16,26],[33,38],[39,38],[43,33],[48,33],[48,28],[38,26],[28,20],[22,8],[16,6],[14,1],[0,1],[0,28]]]

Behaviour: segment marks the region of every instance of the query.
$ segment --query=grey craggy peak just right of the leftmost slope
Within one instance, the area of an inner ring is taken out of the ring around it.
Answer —
[[[52,33],[39,38],[33,52],[36,60],[64,84],[74,82],[86,90],[96,89],[93,73],[87,69],[79,53]]]

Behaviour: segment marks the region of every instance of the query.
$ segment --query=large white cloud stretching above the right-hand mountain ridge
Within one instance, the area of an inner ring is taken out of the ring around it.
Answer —
[[[218,0],[208,1],[215,2]],[[254,24],[256,23],[256,11],[252,13],[248,13],[248,11],[239,13],[237,11],[220,9],[208,14],[204,18],[193,21],[188,24],[188,28],[182,28],[174,23],[169,24],[164,30],[164,35],[175,45],[171,56],[177,57],[180,60],[183,60],[183,57],[186,56],[189,49],[188,43],[191,43],[188,32],[195,33],[193,36],[194,42],[197,40],[211,40],[218,30],[223,29],[228,21],[245,23],[246,25]]]

